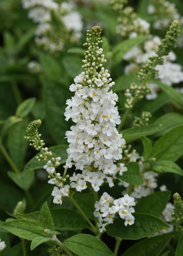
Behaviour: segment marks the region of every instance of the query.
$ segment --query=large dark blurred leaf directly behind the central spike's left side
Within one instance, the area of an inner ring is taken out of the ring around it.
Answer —
[[[56,144],[66,144],[64,138],[66,131],[70,129],[71,123],[64,117],[66,100],[71,98],[69,90],[59,84],[50,82],[43,78],[44,108],[46,110],[46,126],[55,140]]]

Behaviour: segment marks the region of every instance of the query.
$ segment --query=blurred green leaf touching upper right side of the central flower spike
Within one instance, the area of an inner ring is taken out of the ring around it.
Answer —
[[[115,80],[115,85],[112,86],[112,91],[120,92],[122,90],[126,90],[133,82],[137,84],[139,83],[136,74],[122,75]]]

